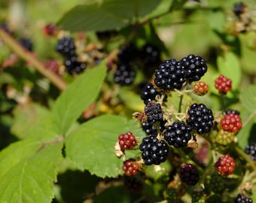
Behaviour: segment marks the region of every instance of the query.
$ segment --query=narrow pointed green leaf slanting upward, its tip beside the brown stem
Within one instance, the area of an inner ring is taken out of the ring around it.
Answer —
[[[75,120],[96,99],[105,78],[105,62],[79,75],[53,105],[53,120],[56,132],[65,135]]]

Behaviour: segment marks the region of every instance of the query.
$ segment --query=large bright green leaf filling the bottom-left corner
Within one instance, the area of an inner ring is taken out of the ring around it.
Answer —
[[[51,202],[62,144],[40,145],[38,141],[21,141],[2,151],[0,202]]]

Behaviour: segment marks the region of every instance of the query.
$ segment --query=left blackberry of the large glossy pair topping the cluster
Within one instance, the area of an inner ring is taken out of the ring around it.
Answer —
[[[175,59],[164,61],[155,72],[154,83],[161,89],[181,89],[186,80],[184,66]]]

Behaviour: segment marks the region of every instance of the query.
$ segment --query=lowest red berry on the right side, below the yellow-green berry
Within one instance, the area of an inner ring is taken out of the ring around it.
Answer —
[[[234,161],[233,157],[230,156],[229,154],[221,156],[220,158],[218,158],[218,161],[215,162],[215,168],[223,176],[233,174],[235,167],[236,162]]]

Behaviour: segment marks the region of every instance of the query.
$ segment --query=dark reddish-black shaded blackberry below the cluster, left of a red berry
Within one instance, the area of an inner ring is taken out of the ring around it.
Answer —
[[[181,165],[179,175],[181,177],[181,181],[190,186],[194,186],[199,180],[199,171],[190,163]]]

